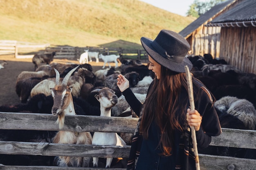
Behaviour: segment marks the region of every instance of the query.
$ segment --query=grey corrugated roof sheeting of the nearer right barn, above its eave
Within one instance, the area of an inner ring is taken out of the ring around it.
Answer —
[[[256,20],[256,0],[244,0],[236,4],[232,9],[214,18],[213,23],[243,22]]]

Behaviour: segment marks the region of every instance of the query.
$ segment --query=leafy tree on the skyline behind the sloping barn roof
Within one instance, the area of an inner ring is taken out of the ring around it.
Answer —
[[[187,16],[199,17],[209,11],[211,7],[215,6],[219,2],[223,2],[225,0],[208,0],[206,2],[201,2],[201,0],[194,0],[193,4],[189,7],[190,9],[186,13]]]

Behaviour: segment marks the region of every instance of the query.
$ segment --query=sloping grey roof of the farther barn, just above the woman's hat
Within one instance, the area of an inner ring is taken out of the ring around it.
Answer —
[[[195,31],[199,26],[207,22],[211,17],[214,17],[218,13],[222,12],[226,7],[233,4],[237,0],[226,0],[224,2],[220,2],[216,4],[214,7],[212,7],[209,11],[198,17],[195,21],[193,21],[191,24],[186,26],[182,31],[180,31],[180,35],[187,38],[193,31]],[[252,0],[256,1],[256,0]]]

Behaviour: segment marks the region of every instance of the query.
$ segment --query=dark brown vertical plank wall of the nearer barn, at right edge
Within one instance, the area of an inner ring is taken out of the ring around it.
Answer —
[[[220,59],[242,72],[256,74],[256,27],[223,27]]]

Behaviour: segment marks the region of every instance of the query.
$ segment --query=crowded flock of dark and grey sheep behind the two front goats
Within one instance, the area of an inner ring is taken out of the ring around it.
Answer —
[[[92,57],[89,58],[89,61],[91,58]],[[103,56],[99,58],[103,59]],[[115,58],[115,60],[117,58]],[[193,64],[191,70],[193,76],[202,81],[216,98],[214,107],[218,113],[221,126],[233,129],[256,130],[256,75],[243,73],[231,65],[228,65],[224,60],[213,59],[210,54],[204,54],[204,56],[188,56],[188,58]],[[98,58],[96,59],[98,60]],[[64,81],[66,81],[65,85],[72,87],[70,93],[72,94],[71,98],[74,104],[74,112],[77,115],[101,116],[102,108],[98,96],[99,90],[108,88],[111,89],[117,97],[116,104],[112,106],[110,116],[133,116],[134,114],[132,110],[130,110],[130,106],[117,87],[117,75],[120,73],[125,75],[130,82],[132,92],[135,93],[135,96],[141,102],[144,102],[148,86],[153,81],[153,78],[155,78],[153,72],[148,70],[148,66],[144,65],[139,60],[122,59],[119,67],[116,66],[106,69],[104,68],[106,63],[104,63],[101,70],[92,69],[92,65],[88,64],[88,55],[86,60],[81,59],[81,61],[83,61],[83,63],[80,65],[74,63],[51,63],[50,61],[46,64],[36,64],[34,72],[21,72],[16,80],[16,94],[20,98],[20,104],[2,105],[0,106],[0,111],[52,114],[54,105],[54,98],[52,97],[54,96],[53,89],[58,84],[57,82],[62,83],[64,79]],[[56,76],[56,70],[59,74],[58,77]],[[71,72],[71,70],[73,71]],[[65,78],[67,75],[68,78]],[[98,96],[98,98],[96,96]],[[27,139],[24,139],[24,133],[26,133]],[[53,143],[56,133],[55,131],[40,131],[38,133],[34,131],[20,131],[19,133],[18,130],[0,130],[0,140]],[[130,145],[131,134],[119,135],[122,137],[120,140],[124,141],[123,145]],[[102,139],[99,134],[97,138]],[[96,144],[101,143],[96,142]],[[222,151],[224,149],[228,150],[227,148],[218,148],[218,153],[216,154],[238,156],[238,153],[232,155],[231,151],[223,153]],[[212,150],[216,152],[216,149],[213,148]],[[199,153],[207,152],[209,152],[209,150],[199,150]],[[240,154],[238,157],[246,158],[246,154]],[[22,157],[22,155],[20,155],[20,157]],[[256,159],[255,153],[253,157],[253,159]],[[34,161],[37,158],[26,157],[26,159],[28,159],[26,165],[30,165],[29,160]],[[69,166],[66,163],[58,163],[57,160],[59,159],[60,158],[57,159],[56,157],[41,158],[40,164],[44,161],[43,165],[45,166]],[[22,160],[22,158],[20,160]],[[0,163],[6,165],[11,164],[4,155],[0,155]],[[108,162],[108,167],[110,167],[110,163]],[[92,167],[96,165],[98,166],[98,159],[97,161],[94,159],[93,164],[92,161],[89,165],[86,164],[86,166]],[[102,167],[105,167],[105,165],[102,165]],[[79,166],[83,166],[83,164]],[[100,163],[99,166],[101,166]]]

